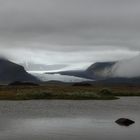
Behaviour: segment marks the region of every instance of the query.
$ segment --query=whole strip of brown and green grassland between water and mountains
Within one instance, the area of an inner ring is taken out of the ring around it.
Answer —
[[[140,96],[140,89],[131,87],[80,87],[70,85],[0,86],[0,100],[114,100],[118,96]]]

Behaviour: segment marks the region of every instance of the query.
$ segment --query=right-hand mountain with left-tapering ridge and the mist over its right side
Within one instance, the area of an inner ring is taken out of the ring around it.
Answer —
[[[140,77],[140,56],[121,61],[96,62],[86,70],[69,70],[57,72],[62,75],[77,76],[93,80],[104,80],[109,78],[130,78]],[[53,74],[53,73],[52,73]]]

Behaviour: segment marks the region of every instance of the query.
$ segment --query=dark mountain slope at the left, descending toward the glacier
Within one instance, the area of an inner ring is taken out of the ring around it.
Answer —
[[[14,81],[39,82],[39,80],[27,73],[24,67],[0,58],[0,84],[9,84]]]

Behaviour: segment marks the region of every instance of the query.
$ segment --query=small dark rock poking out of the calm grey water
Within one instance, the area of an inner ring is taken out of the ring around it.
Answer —
[[[135,123],[134,121],[127,119],[127,118],[120,118],[120,119],[116,120],[115,122],[122,126],[129,126],[129,125],[132,125]]]

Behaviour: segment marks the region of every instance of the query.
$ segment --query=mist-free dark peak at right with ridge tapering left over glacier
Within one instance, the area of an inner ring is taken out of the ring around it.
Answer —
[[[100,80],[111,77],[112,67],[117,62],[97,62],[89,66],[86,70],[71,70],[71,71],[60,71],[52,72],[49,74],[59,73],[61,75],[77,76],[87,79]]]

